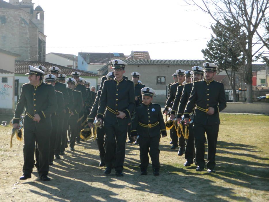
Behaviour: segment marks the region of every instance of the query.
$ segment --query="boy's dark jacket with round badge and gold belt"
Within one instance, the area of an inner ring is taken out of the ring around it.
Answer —
[[[133,114],[131,136],[154,137],[166,135],[165,123],[161,106],[151,103],[149,105],[141,104],[136,107]]]

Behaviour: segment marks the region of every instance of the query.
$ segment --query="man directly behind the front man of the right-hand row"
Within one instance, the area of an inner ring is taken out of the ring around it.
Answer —
[[[191,73],[193,80],[200,81],[203,77],[203,68],[199,66],[195,66],[195,67],[192,67],[191,69],[193,70]],[[178,105],[178,113],[177,113],[178,121],[181,121],[181,116],[183,115],[185,106],[189,100],[189,97],[191,96],[192,86],[193,86],[193,83],[187,83],[183,87],[182,95],[181,95],[180,102]],[[186,139],[186,149],[185,149],[185,159],[186,159],[186,162],[184,163],[185,167],[193,164],[193,158],[195,157],[194,156],[194,134],[193,134],[192,127],[193,127],[193,124],[189,124],[189,138]]]

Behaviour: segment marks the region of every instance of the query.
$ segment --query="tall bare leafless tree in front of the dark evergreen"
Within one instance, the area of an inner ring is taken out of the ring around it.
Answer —
[[[266,15],[269,0],[184,0],[189,5],[197,6],[209,14],[213,20],[229,31],[238,40],[238,44],[246,58],[244,79],[247,87],[247,102],[252,102],[252,58],[265,46],[269,49],[268,35],[262,33],[262,28],[268,29]],[[199,2],[199,3],[196,3]],[[233,21],[234,25],[244,33],[246,40],[225,24],[225,19]],[[253,46],[256,50],[253,51]]]

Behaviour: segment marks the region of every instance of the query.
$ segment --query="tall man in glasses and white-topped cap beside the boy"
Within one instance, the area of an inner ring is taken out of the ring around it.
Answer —
[[[135,91],[133,82],[123,78],[124,68],[127,63],[122,60],[112,60],[110,63],[115,78],[104,81],[99,99],[97,120],[104,120],[104,161],[107,166],[105,174],[111,173],[112,159],[114,158],[114,140],[116,139],[116,152],[113,163],[116,176],[123,176],[125,142],[128,123],[131,123],[131,112],[135,108]]]

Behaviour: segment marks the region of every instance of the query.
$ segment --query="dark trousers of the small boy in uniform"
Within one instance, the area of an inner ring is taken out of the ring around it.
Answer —
[[[150,137],[139,138],[139,151],[140,151],[140,169],[144,168],[147,169],[149,164],[148,152],[151,157],[152,168],[159,169],[160,168],[160,144],[161,135]]]

